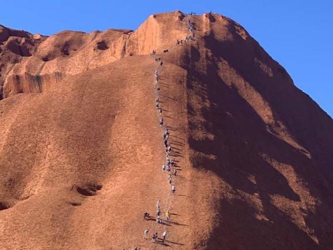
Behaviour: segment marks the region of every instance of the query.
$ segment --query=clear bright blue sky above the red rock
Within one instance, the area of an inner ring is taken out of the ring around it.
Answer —
[[[50,35],[136,29],[152,13],[218,12],[240,23],[333,117],[333,1],[330,0],[0,0],[0,24]]]

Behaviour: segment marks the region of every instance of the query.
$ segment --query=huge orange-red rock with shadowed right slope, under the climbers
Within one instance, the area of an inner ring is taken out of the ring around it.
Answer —
[[[194,39],[176,45],[189,20]],[[333,247],[332,119],[233,20],[176,11],[50,37],[0,26],[0,60],[1,249]]]

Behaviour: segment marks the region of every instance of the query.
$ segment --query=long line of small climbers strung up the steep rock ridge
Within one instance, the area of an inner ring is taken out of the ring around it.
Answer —
[[[184,19],[184,22],[186,24],[188,24],[189,26],[189,31],[190,31],[190,36],[186,36],[185,39],[177,39],[177,43],[176,45],[180,45],[180,44],[183,44],[187,41],[193,41],[194,40],[194,27],[193,27],[193,24],[191,22],[191,19],[190,19],[190,16],[191,15],[194,15],[195,13],[194,12],[190,12],[189,15],[188,15],[188,18]],[[169,49],[168,50],[163,50],[164,53],[166,52],[169,52]],[[155,98],[155,101],[156,101],[156,109],[158,111],[158,115],[159,115],[159,125],[160,125],[160,128],[163,129],[163,143],[164,143],[164,150],[165,150],[165,159],[166,159],[166,162],[165,164],[162,164],[162,173],[165,173],[165,171],[168,173],[168,181],[171,185],[171,192],[170,194],[171,195],[174,195],[176,193],[176,186],[175,186],[175,183],[173,183],[173,178],[172,178],[172,173],[173,175],[176,177],[177,176],[177,169],[175,168],[175,162],[171,159],[171,152],[173,151],[172,147],[171,147],[171,143],[169,141],[169,136],[170,136],[170,129],[168,126],[166,126],[164,120],[163,120],[163,117],[162,117],[162,107],[161,107],[161,102],[160,102],[160,87],[158,85],[158,82],[159,82],[159,75],[158,75],[158,72],[159,72],[159,69],[161,67],[163,67],[163,61],[161,60],[160,57],[157,57],[157,54],[156,54],[156,50],[153,50],[153,52],[151,53],[151,56],[155,59],[155,61],[159,64],[159,66],[156,68],[155,70],[155,93],[156,93],[156,98]],[[176,157],[176,156],[175,156]],[[170,201],[170,196],[168,198],[168,203]],[[166,225],[168,223],[170,223],[170,216],[171,216],[171,213],[170,213],[170,204],[168,204],[166,207],[166,212],[165,212],[165,220],[163,220],[161,218],[161,201],[158,200],[156,202],[156,215],[157,215],[157,218],[156,218],[156,222],[157,223],[161,223],[163,225]],[[143,214],[143,219],[144,220],[149,220],[150,219],[150,214],[145,212]],[[166,223],[166,224],[165,224]],[[149,235],[149,229],[145,229],[143,231],[143,238],[144,239],[148,239],[148,235]],[[158,239],[161,240],[161,242],[164,242],[165,239],[166,239],[166,235],[167,235],[167,232],[166,230],[164,230],[164,232],[162,233],[162,238],[158,238],[158,233],[156,232],[155,234],[152,235],[152,242],[156,242],[158,241]],[[140,248],[138,247],[135,247],[135,250],[139,250]]]

